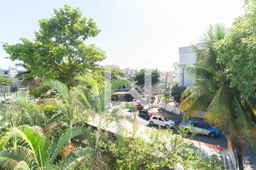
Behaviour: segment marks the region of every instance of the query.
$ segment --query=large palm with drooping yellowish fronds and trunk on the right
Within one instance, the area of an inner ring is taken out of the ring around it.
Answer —
[[[226,30],[221,25],[210,26],[199,47],[193,46],[197,61],[194,65],[183,66],[198,81],[183,92],[179,109],[187,110],[185,119],[207,111],[205,121],[229,135],[237,151],[239,168],[243,169],[243,145],[255,148],[256,142],[255,105],[251,104],[255,95],[245,101],[237,88],[230,87],[230,80],[224,72],[226,66],[218,62],[216,50],[217,42],[225,35]]]

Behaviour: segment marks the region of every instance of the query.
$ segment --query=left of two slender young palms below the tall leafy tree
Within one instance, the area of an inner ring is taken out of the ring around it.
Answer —
[[[81,110],[80,103],[77,101],[78,92],[75,89],[68,90],[65,84],[57,80],[44,80],[40,87],[51,87],[59,92],[61,100],[53,99],[48,103],[54,105],[65,117],[68,118],[69,128],[73,127],[77,121],[85,116],[85,112]]]

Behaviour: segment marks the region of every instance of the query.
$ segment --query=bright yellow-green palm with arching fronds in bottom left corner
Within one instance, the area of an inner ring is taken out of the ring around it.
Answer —
[[[79,135],[88,136],[88,132],[75,127],[49,140],[41,131],[28,125],[10,128],[0,139],[0,164],[5,169],[69,169],[81,158],[90,155],[89,149],[77,149],[64,159],[57,160],[57,155],[68,141]],[[16,147],[8,144],[14,137],[18,143]]]

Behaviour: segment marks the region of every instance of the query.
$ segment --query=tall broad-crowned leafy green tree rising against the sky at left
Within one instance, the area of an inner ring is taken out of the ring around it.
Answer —
[[[93,19],[82,16],[79,8],[64,5],[55,9],[50,19],[39,20],[39,26],[34,42],[21,38],[21,44],[3,44],[8,58],[23,61],[32,77],[58,79],[71,88],[75,73],[96,69],[96,62],[106,57],[94,44],[85,44],[100,29]]]

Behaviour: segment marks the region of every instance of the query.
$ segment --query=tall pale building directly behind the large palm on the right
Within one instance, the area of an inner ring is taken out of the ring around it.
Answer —
[[[179,48],[179,61],[180,64],[193,64],[196,63],[196,53],[193,52],[192,46],[185,46]],[[184,69],[179,69],[180,78],[179,84],[180,86],[188,87],[191,84],[196,82],[196,78],[185,73]]]

